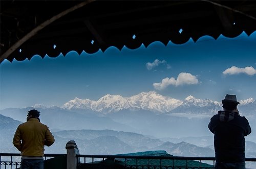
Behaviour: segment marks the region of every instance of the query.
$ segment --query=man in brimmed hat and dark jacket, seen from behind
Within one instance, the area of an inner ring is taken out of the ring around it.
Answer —
[[[223,111],[210,119],[209,130],[214,133],[216,169],[245,169],[245,136],[251,133],[248,120],[240,116],[237,96],[226,94]]]

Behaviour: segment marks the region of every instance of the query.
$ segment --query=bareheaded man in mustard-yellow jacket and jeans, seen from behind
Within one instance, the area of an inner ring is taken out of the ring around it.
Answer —
[[[22,155],[22,169],[43,169],[45,145],[51,146],[55,141],[49,128],[40,123],[39,115],[39,111],[30,110],[27,122],[18,126],[13,137],[13,145]]]

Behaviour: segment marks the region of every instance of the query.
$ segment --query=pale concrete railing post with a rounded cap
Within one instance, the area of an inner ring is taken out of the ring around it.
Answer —
[[[76,169],[77,168],[77,160],[76,155],[79,154],[79,150],[77,149],[76,142],[74,140],[70,140],[66,144],[67,149],[67,169]]]

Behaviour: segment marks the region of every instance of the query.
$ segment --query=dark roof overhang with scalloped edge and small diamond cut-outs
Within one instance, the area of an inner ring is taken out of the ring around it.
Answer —
[[[249,36],[256,1],[1,1],[1,60]]]

